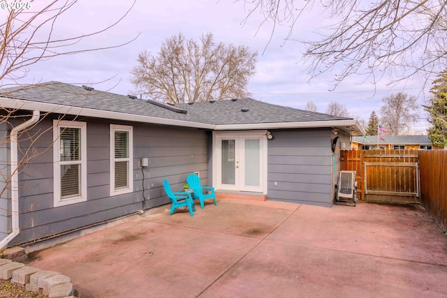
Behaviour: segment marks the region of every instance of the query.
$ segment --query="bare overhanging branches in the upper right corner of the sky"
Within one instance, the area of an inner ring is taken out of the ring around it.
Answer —
[[[393,82],[417,73],[439,73],[447,61],[445,0],[244,0],[251,15],[262,13],[263,24],[302,27],[306,15],[327,13],[332,21],[307,45],[312,77],[336,70],[335,87],[349,75],[367,75],[376,82],[388,70]],[[322,16],[323,17],[323,16]]]

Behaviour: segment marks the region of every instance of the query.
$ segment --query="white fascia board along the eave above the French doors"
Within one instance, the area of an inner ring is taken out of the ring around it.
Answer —
[[[352,128],[358,135],[363,135],[362,128],[355,119],[329,120],[329,121],[305,121],[305,122],[276,122],[260,124],[219,124],[216,131],[250,130],[250,129],[281,129],[281,128],[338,128],[346,131]]]

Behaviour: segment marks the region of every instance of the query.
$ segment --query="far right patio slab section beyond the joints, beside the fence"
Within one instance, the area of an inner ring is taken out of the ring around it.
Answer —
[[[418,204],[302,205],[268,239],[447,266],[446,237]]]

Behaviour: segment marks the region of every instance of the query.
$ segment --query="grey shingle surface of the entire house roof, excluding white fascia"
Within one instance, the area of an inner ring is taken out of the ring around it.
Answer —
[[[82,109],[118,112],[127,115],[137,115],[138,117],[188,121],[206,125],[305,123],[309,121],[318,123],[320,121],[337,122],[337,120],[352,120],[330,114],[272,105],[252,98],[176,105],[177,109],[187,111],[184,114],[169,109],[168,107],[170,106],[168,105],[150,103],[150,100],[148,102],[105,91],[87,90],[83,87],[61,82],[47,82],[29,87],[0,89],[0,96],[37,103],[82,107]],[[242,109],[247,110],[247,112],[242,112]],[[133,119],[130,118],[128,120],[132,121]]]

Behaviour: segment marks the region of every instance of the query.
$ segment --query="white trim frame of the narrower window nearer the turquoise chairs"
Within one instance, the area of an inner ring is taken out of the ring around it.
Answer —
[[[119,158],[129,161],[129,187],[115,190],[115,131],[129,132],[129,158]],[[110,195],[122,195],[133,192],[133,126],[110,124]]]

